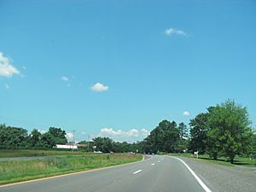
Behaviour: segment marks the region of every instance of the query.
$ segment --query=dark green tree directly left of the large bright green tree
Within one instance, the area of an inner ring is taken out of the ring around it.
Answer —
[[[190,126],[190,143],[189,149],[199,154],[205,154],[207,151],[207,120],[209,113],[199,113],[195,119],[191,119]]]

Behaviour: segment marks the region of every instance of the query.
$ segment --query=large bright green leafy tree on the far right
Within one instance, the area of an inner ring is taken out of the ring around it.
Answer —
[[[212,149],[219,150],[234,162],[236,154],[247,153],[252,137],[247,108],[228,100],[212,108],[208,117],[209,141]]]

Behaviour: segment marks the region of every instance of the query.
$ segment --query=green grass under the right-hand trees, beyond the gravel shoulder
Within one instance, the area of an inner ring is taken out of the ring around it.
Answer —
[[[168,154],[168,155],[196,159],[196,156],[195,155],[191,156],[191,154]],[[226,158],[224,157],[220,157],[218,158],[218,160],[212,160],[211,158],[209,158],[207,154],[199,155],[198,160],[203,160],[206,163],[213,163],[213,164],[218,164],[223,166],[253,166],[253,167],[256,166],[256,160],[250,160],[247,157],[239,157],[239,156],[236,156],[234,160],[234,164],[230,164],[230,162],[227,161]]]

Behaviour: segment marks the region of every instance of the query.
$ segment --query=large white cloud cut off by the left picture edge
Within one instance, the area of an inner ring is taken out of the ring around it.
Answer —
[[[20,74],[19,70],[12,66],[9,58],[4,56],[3,53],[0,52],[0,75],[10,78],[14,74]]]

